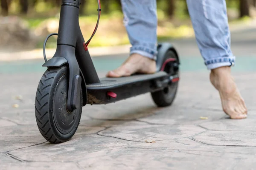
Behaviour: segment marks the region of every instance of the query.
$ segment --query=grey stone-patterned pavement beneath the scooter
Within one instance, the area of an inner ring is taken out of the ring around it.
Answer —
[[[183,72],[171,107],[156,108],[149,94],[110,105],[87,105],[75,136],[62,144],[46,142],[35,123],[35,80],[41,73],[0,77],[1,170],[255,168],[253,72],[235,76],[249,109],[247,119],[226,119],[207,72]],[[14,99],[17,95],[23,99]]]

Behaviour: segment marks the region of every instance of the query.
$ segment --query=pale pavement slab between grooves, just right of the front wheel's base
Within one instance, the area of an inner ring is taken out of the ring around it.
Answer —
[[[166,139],[176,139],[193,136],[205,131],[195,125],[149,125],[144,122],[126,122],[119,126],[109,127],[99,132],[99,135],[136,142],[156,142]]]

